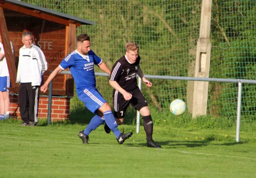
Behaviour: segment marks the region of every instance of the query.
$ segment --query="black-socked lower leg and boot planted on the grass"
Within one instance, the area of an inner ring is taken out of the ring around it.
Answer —
[[[145,129],[146,136],[147,136],[147,146],[153,147],[153,148],[161,148],[161,146],[157,145],[152,139],[153,121],[152,121],[151,115],[143,116],[142,118],[143,118],[144,129]]]

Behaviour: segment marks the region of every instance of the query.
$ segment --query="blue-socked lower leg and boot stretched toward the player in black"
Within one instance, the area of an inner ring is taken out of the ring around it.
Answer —
[[[103,113],[107,126],[111,129],[111,131],[116,135],[116,140],[118,144],[123,144],[124,141],[132,136],[132,132],[127,134],[121,133],[117,128],[117,123],[115,117],[111,111],[106,111]]]

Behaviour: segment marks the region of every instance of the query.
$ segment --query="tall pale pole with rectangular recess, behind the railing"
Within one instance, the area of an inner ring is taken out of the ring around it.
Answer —
[[[211,6],[212,0],[202,0],[200,32],[197,43],[195,77],[209,77],[211,58]],[[208,100],[207,81],[194,82],[192,117],[205,115]]]

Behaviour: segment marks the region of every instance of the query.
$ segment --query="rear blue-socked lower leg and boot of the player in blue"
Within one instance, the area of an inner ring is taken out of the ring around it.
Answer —
[[[78,136],[82,139],[83,144],[88,144],[89,134],[91,133],[91,131],[97,129],[97,127],[103,124],[103,122],[104,122],[104,119],[102,117],[99,117],[98,115],[95,115],[94,117],[92,117],[86,129],[78,133]]]

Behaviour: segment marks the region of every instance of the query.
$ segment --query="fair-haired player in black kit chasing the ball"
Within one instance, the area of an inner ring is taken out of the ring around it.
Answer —
[[[147,136],[147,146],[161,148],[161,146],[157,145],[152,139],[153,121],[148,103],[137,86],[136,74],[142,78],[142,81],[148,87],[152,86],[152,83],[144,77],[140,70],[140,56],[138,53],[139,46],[136,43],[128,42],[126,44],[126,55],[116,61],[112,67],[109,83],[114,88],[114,116],[116,117],[117,124],[121,125],[124,121],[125,111],[131,103],[132,107],[140,111],[140,114],[143,117],[143,125]],[[107,133],[110,133],[110,129],[106,124],[104,125],[104,129]]]

